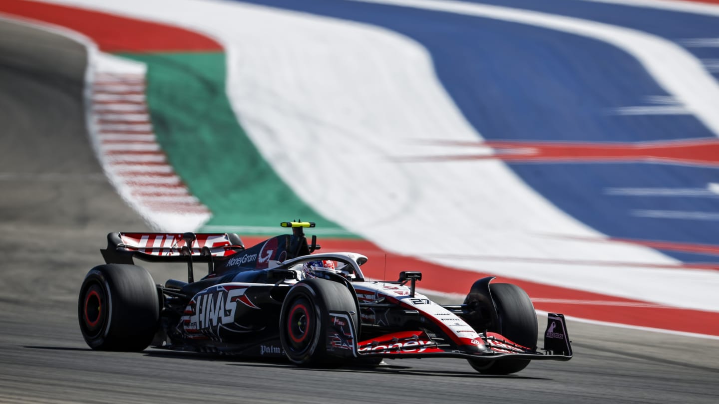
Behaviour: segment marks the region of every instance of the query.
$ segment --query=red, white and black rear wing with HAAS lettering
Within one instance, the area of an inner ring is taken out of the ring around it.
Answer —
[[[101,249],[108,264],[134,264],[133,258],[149,262],[212,262],[244,249],[234,233],[109,233]]]

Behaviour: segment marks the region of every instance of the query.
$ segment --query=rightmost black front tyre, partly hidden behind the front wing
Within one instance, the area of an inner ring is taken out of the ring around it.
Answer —
[[[510,283],[491,283],[490,294],[497,308],[498,324],[490,331],[502,334],[510,341],[534,349],[537,344],[537,317],[527,293]],[[502,359],[480,362],[470,359],[477,372],[486,375],[509,375],[529,364],[529,359]]]

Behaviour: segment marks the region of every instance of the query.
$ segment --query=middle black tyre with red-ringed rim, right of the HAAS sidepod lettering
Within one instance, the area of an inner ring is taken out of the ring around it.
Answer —
[[[280,342],[290,362],[302,366],[336,365],[326,352],[330,311],[350,313],[357,330],[357,306],[347,286],[331,280],[303,280],[290,289],[280,313]]]

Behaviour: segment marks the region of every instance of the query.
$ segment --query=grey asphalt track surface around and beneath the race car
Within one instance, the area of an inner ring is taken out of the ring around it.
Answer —
[[[569,322],[575,357],[487,377],[454,359],[303,369],[147,349],[93,352],[78,288],[109,231],[147,226],[88,142],[84,48],[0,20],[0,402],[716,403],[719,340]],[[157,282],[182,277],[151,268]],[[541,319],[540,324],[544,324]]]

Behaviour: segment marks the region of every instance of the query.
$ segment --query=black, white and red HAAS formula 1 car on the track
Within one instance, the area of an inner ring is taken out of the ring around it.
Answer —
[[[244,248],[237,234],[110,233],[105,265],[83,281],[80,329],[92,349],[147,346],[244,357],[286,357],[305,366],[383,359],[457,357],[478,372],[505,375],[531,360],[572,358],[562,314],[549,314],[537,350],[531,300],[516,285],[477,280],[459,306],[415,290],[421,272],[367,281],[354,252],[316,253],[310,222],[283,222],[292,234]],[[188,282],[155,285],[134,265],[184,262]],[[308,265],[331,262],[330,267]],[[194,280],[194,267],[208,274]]]

